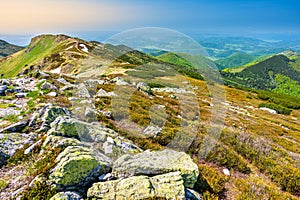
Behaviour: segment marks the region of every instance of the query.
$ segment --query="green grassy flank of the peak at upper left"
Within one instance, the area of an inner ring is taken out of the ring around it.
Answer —
[[[3,77],[13,77],[29,67],[40,66],[51,70],[68,64],[75,66],[72,58],[85,55],[79,48],[80,42],[86,45],[83,40],[65,35],[37,36],[31,40],[28,47],[0,61],[0,74],[3,74]]]

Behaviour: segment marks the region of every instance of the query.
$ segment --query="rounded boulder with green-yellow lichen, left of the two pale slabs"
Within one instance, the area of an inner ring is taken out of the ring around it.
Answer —
[[[58,188],[84,187],[111,169],[111,160],[86,147],[69,146],[56,158],[50,182]]]

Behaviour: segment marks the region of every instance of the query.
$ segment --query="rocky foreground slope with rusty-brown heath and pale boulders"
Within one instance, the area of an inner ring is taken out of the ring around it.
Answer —
[[[74,39],[55,41],[69,40]],[[147,68],[142,82],[133,75],[139,78],[139,62],[152,58],[134,52],[105,66],[117,51],[126,47],[93,53],[103,59],[92,68],[99,76],[53,72],[51,61],[41,70],[0,80],[0,199],[299,199],[296,107],[290,115],[277,114],[259,108],[269,101],[259,93],[226,87],[221,103],[227,116],[217,127],[204,81],[163,73],[172,66],[166,64]],[[174,86],[180,82],[184,87]],[[126,88],[134,92],[123,110],[125,98],[118,95]],[[183,113],[180,102],[190,91],[200,107],[193,123],[200,125],[188,147],[170,148],[180,128],[186,128],[182,140],[191,134],[185,120],[194,107],[185,104]],[[131,121],[122,120],[124,115]],[[220,138],[201,157],[208,130],[216,128],[222,129]]]

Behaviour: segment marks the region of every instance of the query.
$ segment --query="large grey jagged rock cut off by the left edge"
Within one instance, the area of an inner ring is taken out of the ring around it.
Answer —
[[[18,149],[26,144],[34,142],[36,134],[10,133],[0,134],[0,167],[5,164],[6,160],[13,156]]]

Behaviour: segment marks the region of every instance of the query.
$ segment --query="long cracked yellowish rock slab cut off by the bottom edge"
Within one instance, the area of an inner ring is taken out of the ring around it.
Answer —
[[[148,176],[133,176],[121,180],[94,183],[88,189],[90,199],[185,199],[180,172]]]

